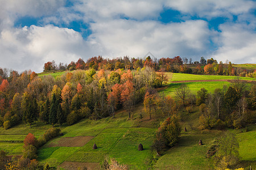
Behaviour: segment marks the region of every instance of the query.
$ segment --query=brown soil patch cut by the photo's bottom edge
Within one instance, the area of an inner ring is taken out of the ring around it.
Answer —
[[[59,167],[64,169],[101,169],[100,163],[91,163],[91,162],[63,162]]]

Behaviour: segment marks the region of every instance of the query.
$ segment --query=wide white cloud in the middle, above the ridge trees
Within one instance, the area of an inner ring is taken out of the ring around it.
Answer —
[[[94,23],[92,30],[89,41],[104,47],[101,51],[108,57],[144,57],[147,52],[155,57],[195,56],[204,53],[211,33],[203,20],[172,24],[113,20]]]

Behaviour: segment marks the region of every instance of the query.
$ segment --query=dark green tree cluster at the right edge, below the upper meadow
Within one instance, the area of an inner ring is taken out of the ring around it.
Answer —
[[[224,86],[222,90],[216,88],[213,94],[201,88],[196,97],[183,85],[176,89],[176,95],[183,101],[184,106],[189,103],[188,112],[191,112],[193,105],[200,106],[200,122],[203,129],[222,129],[225,126],[241,129],[256,121],[253,114],[256,109],[256,85],[247,86],[236,78],[230,87]]]

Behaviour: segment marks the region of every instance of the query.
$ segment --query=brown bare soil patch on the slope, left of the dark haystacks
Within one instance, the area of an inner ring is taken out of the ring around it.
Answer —
[[[51,143],[49,147],[81,147],[84,146],[86,143],[88,143],[91,139],[94,137],[65,137],[60,138],[57,143]]]

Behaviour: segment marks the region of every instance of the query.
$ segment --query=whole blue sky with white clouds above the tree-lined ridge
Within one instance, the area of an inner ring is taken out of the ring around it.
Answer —
[[[256,1],[0,0],[0,67],[94,56],[256,63]]]

